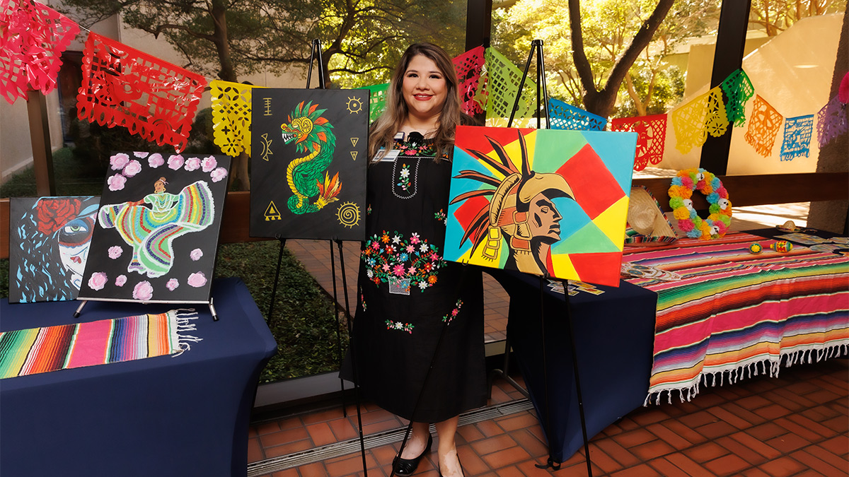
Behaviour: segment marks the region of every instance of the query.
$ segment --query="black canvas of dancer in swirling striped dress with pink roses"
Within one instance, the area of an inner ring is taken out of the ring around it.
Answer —
[[[208,303],[230,158],[110,157],[79,300]]]

